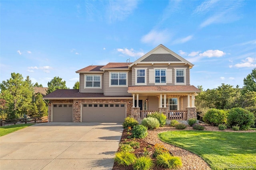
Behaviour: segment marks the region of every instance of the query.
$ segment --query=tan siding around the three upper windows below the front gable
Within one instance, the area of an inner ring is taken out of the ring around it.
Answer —
[[[135,85],[135,79],[136,79],[136,70],[135,68],[147,68],[147,72],[146,72],[146,82],[147,82],[147,85],[155,85],[155,83],[152,83],[150,82],[149,80],[149,76],[150,76],[150,70],[154,69],[154,68],[167,68],[166,70],[166,76],[168,75],[172,75],[172,80],[170,80],[168,77],[166,77],[166,85],[174,85],[175,83],[175,70],[174,68],[186,68],[186,85],[190,85],[190,69],[189,69],[189,66],[184,66],[184,65],[161,65],[161,66],[158,66],[158,65],[150,65],[150,66],[135,66],[132,68],[132,85],[134,86]],[[154,75],[155,76],[155,75]],[[168,82],[172,82],[172,83],[168,83]],[[156,84],[157,85],[157,84]]]

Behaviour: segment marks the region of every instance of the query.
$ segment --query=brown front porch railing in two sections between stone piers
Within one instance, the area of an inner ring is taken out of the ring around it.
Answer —
[[[140,111],[140,119],[144,119],[147,115],[156,112],[156,110],[144,110]],[[187,120],[188,111],[168,111],[169,120]]]

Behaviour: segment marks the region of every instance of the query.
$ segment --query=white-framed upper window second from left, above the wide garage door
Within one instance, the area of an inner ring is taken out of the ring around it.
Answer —
[[[110,72],[110,87],[111,86],[127,87],[127,72]]]

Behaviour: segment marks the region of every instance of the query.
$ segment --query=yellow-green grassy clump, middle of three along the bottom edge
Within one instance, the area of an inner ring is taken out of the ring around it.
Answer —
[[[134,170],[150,170],[154,166],[153,160],[148,156],[141,156],[135,160],[132,168]]]

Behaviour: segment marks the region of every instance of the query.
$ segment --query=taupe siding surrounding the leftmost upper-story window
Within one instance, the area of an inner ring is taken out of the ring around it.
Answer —
[[[97,74],[83,74],[81,73],[80,74],[80,93],[103,93],[104,91],[104,74],[99,74],[101,75],[101,80],[100,80],[100,83],[101,83],[101,89],[96,89],[96,88],[84,88],[85,86],[85,75],[97,75]]]

